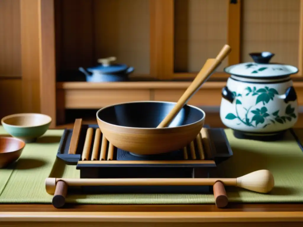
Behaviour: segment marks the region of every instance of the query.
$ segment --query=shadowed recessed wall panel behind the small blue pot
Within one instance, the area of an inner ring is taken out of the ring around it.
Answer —
[[[57,71],[115,56],[149,74],[149,0],[55,0],[55,15]]]

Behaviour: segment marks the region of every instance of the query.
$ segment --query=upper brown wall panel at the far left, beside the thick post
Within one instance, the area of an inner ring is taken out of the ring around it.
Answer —
[[[0,77],[21,77],[20,2],[0,0]]]

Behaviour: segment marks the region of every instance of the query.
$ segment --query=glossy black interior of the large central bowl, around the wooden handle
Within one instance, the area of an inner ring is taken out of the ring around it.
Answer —
[[[135,102],[118,104],[98,112],[100,120],[124,127],[155,128],[172,110],[175,103]],[[199,109],[185,105],[168,127],[195,123],[204,114]]]

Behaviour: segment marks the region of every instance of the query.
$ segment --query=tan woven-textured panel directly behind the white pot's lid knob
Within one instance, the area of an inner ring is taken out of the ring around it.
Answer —
[[[275,53],[273,62],[298,67],[300,0],[243,1],[242,62],[250,52]]]

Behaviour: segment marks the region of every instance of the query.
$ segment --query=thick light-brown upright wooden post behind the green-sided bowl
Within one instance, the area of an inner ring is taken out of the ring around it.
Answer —
[[[44,113],[56,125],[53,0],[21,0],[22,112]]]

